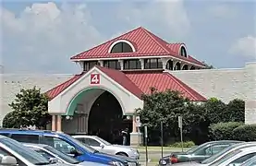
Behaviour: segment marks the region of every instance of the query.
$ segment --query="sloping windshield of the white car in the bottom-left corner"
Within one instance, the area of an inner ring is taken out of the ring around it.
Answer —
[[[49,161],[43,158],[42,155],[35,153],[32,149],[23,146],[16,140],[4,137],[0,139],[0,142],[34,165],[49,164]]]

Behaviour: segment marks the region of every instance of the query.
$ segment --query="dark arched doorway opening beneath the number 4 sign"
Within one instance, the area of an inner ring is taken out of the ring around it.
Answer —
[[[104,91],[91,106],[88,121],[88,133],[100,136],[104,140],[113,143],[122,143],[121,131],[130,125],[125,123],[122,107],[116,97],[108,91]]]

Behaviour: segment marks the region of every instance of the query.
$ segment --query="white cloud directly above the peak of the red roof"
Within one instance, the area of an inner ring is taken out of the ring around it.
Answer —
[[[189,18],[182,0],[154,0],[142,7],[123,4],[118,9],[118,17],[125,19],[131,25],[158,26],[177,36],[186,36],[190,29]]]

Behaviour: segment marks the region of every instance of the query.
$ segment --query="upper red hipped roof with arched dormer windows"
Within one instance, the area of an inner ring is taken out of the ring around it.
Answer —
[[[118,40],[127,40],[134,44],[135,53],[108,53],[111,44]],[[116,58],[116,57],[136,57],[136,56],[159,56],[169,55],[182,60],[189,61],[197,65],[203,65],[199,61],[183,57],[178,54],[178,49],[181,43],[170,44],[161,38],[154,35],[149,30],[138,28],[128,31],[127,33],[116,37],[113,40],[106,41],[98,46],[91,48],[88,51],[72,56],[70,59],[94,59],[94,58]]]

